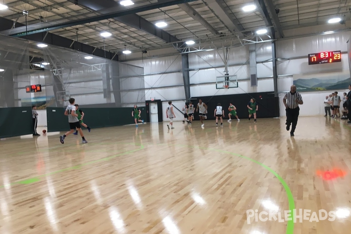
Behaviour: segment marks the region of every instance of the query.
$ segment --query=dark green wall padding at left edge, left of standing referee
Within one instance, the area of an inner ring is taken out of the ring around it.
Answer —
[[[0,138],[33,134],[32,107],[0,108]]]

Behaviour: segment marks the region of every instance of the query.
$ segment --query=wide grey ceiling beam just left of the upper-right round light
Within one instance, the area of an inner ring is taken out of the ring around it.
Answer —
[[[237,19],[234,19],[229,12],[223,7],[220,0],[207,0],[207,5],[216,13],[221,21],[228,27],[229,31],[238,33],[239,36],[243,36],[242,31],[245,29],[240,25]]]

